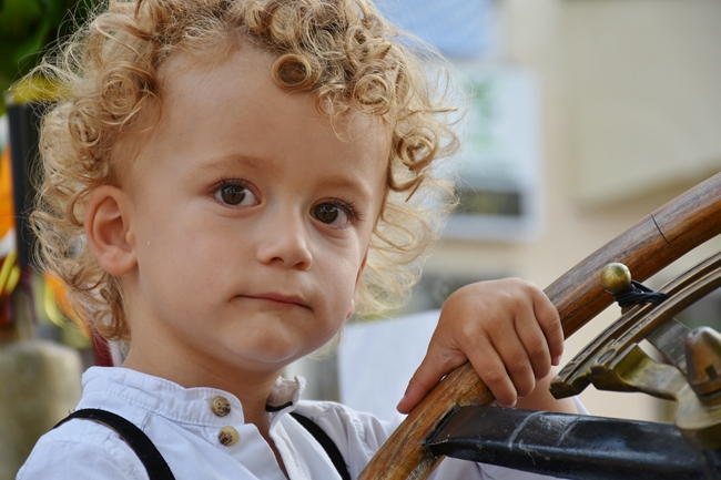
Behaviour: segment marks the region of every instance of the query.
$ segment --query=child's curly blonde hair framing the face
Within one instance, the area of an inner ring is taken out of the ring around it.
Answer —
[[[40,265],[67,284],[73,308],[101,335],[131,339],[120,279],[84,242],[87,200],[118,184],[123,165],[114,149],[138,132],[144,112],[161,112],[163,63],[177,51],[222,51],[242,40],[275,58],[281,88],[314,92],[333,122],[355,109],[389,125],[386,203],[356,310],[399,306],[453,203],[450,182],[431,166],[458,143],[446,89],[424,71],[439,55],[404,39],[366,0],[111,0],[34,72],[57,83],[62,99],[41,126],[43,177],[32,215]]]

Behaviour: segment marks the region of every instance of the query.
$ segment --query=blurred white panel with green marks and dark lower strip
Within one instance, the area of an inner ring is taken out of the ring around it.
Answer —
[[[459,64],[470,92],[460,165],[460,207],[447,237],[520,241],[541,226],[539,94],[527,71]]]

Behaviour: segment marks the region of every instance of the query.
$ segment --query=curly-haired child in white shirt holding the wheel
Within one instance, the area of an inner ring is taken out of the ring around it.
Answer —
[[[403,296],[447,212],[431,168],[456,143],[449,110],[403,44],[366,0],[111,0],[43,67],[68,93],[42,125],[44,267],[129,345],[122,368],[85,372],[78,408],[134,423],[174,478],[339,478],[291,412],[352,478],[390,433],[280,376]],[[545,388],[561,351],[537,287],[468,286],[398,408],[470,359],[500,404],[575,411]],[[464,461],[436,474],[536,478]],[[18,478],[149,473],[113,429],[74,419]]]

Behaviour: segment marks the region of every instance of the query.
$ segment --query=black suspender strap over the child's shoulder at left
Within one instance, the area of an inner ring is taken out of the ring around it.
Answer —
[[[120,438],[125,440],[143,463],[150,480],[175,480],[175,477],[173,477],[173,473],[170,471],[170,467],[167,467],[163,456],[160,455],[150,438],[148,438],[140,428],[135,427],[130,421],[115,413],[111,413],[110,411],[97,408],[85,408],[70,413],[63,420],[60,420],[60,422],[53,428],[58,428],[73,418],[93,420],[115,430]]]

